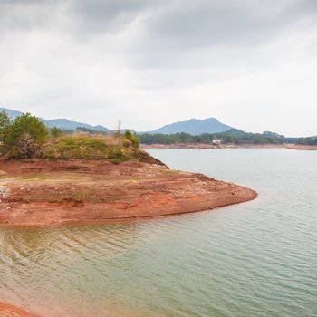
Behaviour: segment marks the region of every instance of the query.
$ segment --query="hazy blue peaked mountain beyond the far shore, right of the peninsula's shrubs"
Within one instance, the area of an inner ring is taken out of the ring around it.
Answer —
[[[232,129],[224,123],[219,122],[216,118],[207,118],[204,120],[190,119],[187,121],[179,121],[168,124],[157,130],[152,130],[149,134],[174,134],[185,132],[191,135],[199,135],[203,133],[218,133]]]

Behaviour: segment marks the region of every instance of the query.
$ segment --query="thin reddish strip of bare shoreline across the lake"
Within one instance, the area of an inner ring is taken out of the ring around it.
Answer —
[[[317,150],[317,145],[301,144],[141,144],[142,149],[296,149]]]

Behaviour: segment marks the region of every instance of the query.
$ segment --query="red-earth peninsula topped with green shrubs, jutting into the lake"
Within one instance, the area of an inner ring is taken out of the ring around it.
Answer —
[[[139,149],[129,130],[66,136],[30,114],[7,121],[0,159],[1,226],[167,216],[256,197],[245,187],[169,169]]]

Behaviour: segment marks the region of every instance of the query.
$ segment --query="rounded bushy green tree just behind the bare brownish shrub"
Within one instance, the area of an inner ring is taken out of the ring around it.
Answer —
[[[5,143],[11,147],[17,145],[18,140],[27,133],[33,139],[35,144],[41,144],[48,137],[48,131],[40,120],[31,116],[30,113],[24,113],[15,118],[9,126]]]

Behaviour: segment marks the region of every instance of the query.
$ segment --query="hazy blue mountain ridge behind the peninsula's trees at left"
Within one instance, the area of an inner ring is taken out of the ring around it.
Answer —
[[[5,111],[8,116],[11,118],[11,120],[14,120],[17,116],[21,116],[23,112],[17,111],[17,110],[11,110],[11,109],[6,109],[6,108],[0,108],[0,111]],[[82,123],[82,122],[76,122],[68,119],[53,119],[53,120],[45,120],[43,118],[39,118],[46,127],[48,128],[60,128],[64,130],[75,130],[76,128],[83,127],[83,128],[88,128],[92,130],[100,130],[100,131],[110,131],[108,128],[105,128],[101,125],[99,126],[91,126],[90,124],[87,123]]]

